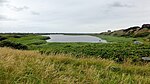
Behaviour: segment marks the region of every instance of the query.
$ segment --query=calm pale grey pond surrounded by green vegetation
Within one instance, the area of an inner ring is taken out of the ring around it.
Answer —
[[[106,40],[102,40],[95,36],[89,35],[45,35],[51,39],[47,42],[91,42],[91,43],[107,43]]]

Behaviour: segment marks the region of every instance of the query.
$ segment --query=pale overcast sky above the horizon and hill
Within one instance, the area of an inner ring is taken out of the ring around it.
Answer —
[[[0,0],[0,32],[103,32],[150,23],[150,0]]]

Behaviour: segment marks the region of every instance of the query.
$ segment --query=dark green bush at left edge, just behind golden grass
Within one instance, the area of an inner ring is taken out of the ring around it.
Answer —
[[[28,46],[23,45],[21,43],[15,43],[11,41],[2,41],[0,42],[0,47],[11,47],[14,49],[21,49],[21,50],[27,50]]]

